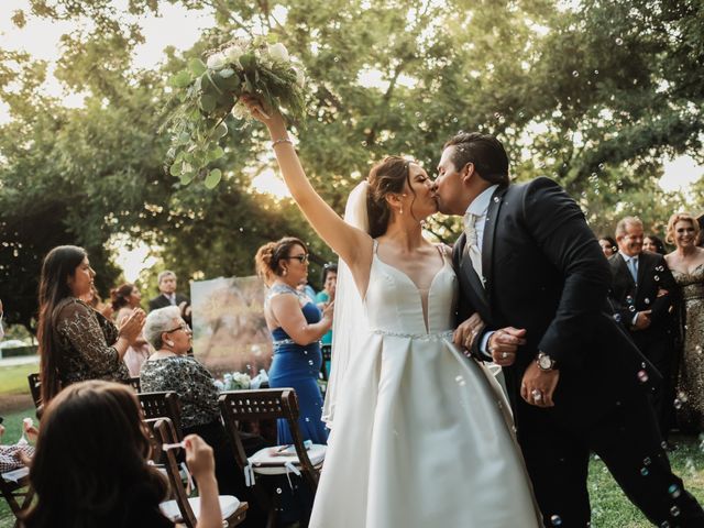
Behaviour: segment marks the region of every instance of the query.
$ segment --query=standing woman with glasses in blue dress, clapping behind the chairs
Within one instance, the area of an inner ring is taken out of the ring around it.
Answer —
[[[298,292],[298,284],[308,276],[308,250],[300,240],[286,237],[264,244],[254,261],[257,274],[268,286],[264,318],[274,340],[270,386],[293,387],[304,440],[327,443],[318,373],[322,363],[320,339],[332,327],[332,302],[320,310]],[[278,421],[278,443],[293,443],[284,420]]]

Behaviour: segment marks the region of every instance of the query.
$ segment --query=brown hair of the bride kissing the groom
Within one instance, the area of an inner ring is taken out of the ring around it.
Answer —
[[[366,178],[370,184],[366,211],[370,220],[370,235],[373,239],[384,234],[388,227],[392,209],[386,201],[386,195],[389,193],[402,194],[404,185],[407,183],[414,195],[414,201],[416,200],[416,193],[410,186],[410,163],[399,156],[386,156],[370,170]]]

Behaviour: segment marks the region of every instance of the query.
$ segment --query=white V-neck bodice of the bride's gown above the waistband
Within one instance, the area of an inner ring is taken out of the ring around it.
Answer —
[[[444,253],[442,255],[442,267],[433,277],[428,292],[422,292],[404,272],[384,263],[376,254],[375,245],[364,299],[372,331],[421,336],[424,330],[436,334],[453,328],[458,297],[457,276],[449,256]],[[427,296],[427,321],[422,309],[424,295]]]

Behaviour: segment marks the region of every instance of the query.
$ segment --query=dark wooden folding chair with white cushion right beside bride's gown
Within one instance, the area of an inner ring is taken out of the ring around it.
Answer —
[[[268,512],[267,526],[276,525],[279,509],[278,493],[267,493],[256,482],[256,475],[267,479],[275,475],[277,482],[280,475],[290,472],[300,474],[310,487],[311,493],[318,488],[320,469],[324,461],[327,446],[304,444],[298,429],[298,399],[293,388],[267,388],[262,391],[229,391],[220,394],[218,399],[220,413],[224,420],[226,429],[230,437],[234,459],[241,471],[244,472],[249,485],[254,485],[254,493],[262,508]],[[284,419],[290,429],[296,454],[283,455],[280,452],[285,446],[264,448],[252,457],[246,457],[240,438],[240,421],[260,421]]]

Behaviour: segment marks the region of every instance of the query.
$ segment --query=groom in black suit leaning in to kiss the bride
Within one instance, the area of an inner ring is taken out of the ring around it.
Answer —
[[[510,185],[486,134],[452,138],[438,172],[440,211],[464,216],[455,341],[504,367],[546,526],[587,526],[591,451],[656,525],[704,526],[648,402],[658,373],[606,314],[610,271],[574,200],[548,178]]]

